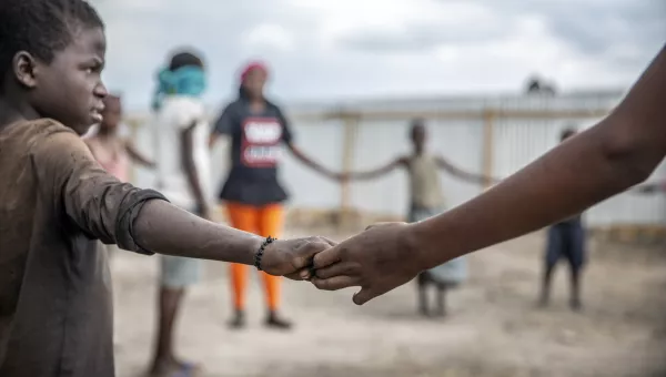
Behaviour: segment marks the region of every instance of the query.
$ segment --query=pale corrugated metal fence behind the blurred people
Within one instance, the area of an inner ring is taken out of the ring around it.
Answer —
[[[496,98],[441,98],[364,101],[331,105],[289,106],[295,143],[309,155],[335,171],[363,171],[408,153],[408,124],[425,119],[428,149],[470,172],[505,177],[555,146],[568,125],[583,130],[595,124],[622,99],[619,91],[571,93],[558,96],[511,95]],[[212,114],[214,115],[214,114]],[[149,122],[134,119],[134,135],[150,154]],[[228,171],[228,143],[212,153],[214,191]],[[138,169],[135,182],[151,186],[150,171]],[[357,210],[363,213],[402,215],[407,207],[404,172],[374,182],[340,185],[284,154],[280,176],[291,193],[292,208]],[[654,179],[666,179],[666,164]],[[483,191],[475,184],[442,174],[450,207]],[[587,213],[592,226],[666,224],[663,195],[622,194]]]

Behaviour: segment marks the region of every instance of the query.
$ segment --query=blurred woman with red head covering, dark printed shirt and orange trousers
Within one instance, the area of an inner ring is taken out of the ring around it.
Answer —
[[[283,203],[287,193],[278,180],[281,143],[291,154],[314,171],[334,177],[334,174],[306,156],[295,144],[289,121],[281,109],[264,95],[268,79],[264,63],[252,62],[241,73],[239,98],[226,105],[210,137],[211,147],[222,136],[231,137],[231,170],[220,192],[231,226],[276,237],[284,222]],[[292,324],[279,314],[280,277],[261,273],[264,281],[268,315],[265,325],[289,329]],[[248,268],[231,265],[231,285],[234,314],[232,328],[245,326],[245,294]]]

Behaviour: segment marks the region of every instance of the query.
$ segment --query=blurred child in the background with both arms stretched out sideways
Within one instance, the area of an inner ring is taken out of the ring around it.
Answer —
[[[412,122],[410,140],[413,152],[408,156],[401,156],[387,165],[363,173],[344,174],[343,179],[369,180],[387,174],[396,167],[404,167],[410,177],[410,213],[408,222],[417,223],[444,212],[444,196],[440,180],[440,170],[470,182],[482,184],[488,180],[485,176],[470,174],[455,167],[442,156],[425,151],[427,132],[422,120]],[[446,315],[446,291],[460,285],[466,278],[466,263],[464,258],[455,258],[443,265],[418,274],[418,309],[423,315],[430,315],[427,303],[427,286],[437,288],[437,315]]]

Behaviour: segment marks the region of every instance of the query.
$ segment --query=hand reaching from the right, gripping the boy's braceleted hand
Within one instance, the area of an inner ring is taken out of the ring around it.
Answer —
[[[325,291],[360,286],[353,300],[363,305],[410,282],[427,268],[412,228],[405,223],[376,224],[315,255],[312,283]]]

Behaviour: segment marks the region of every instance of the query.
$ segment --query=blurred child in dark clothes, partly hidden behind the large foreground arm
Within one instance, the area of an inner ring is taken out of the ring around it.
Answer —
[[[574,129],[562,132],[561,142],[574,136]],[[544,255],[544,276],[539,306],[545,307],[551,299],[551,281],[553,271],[561,258],[566,258],[571,267],[571,299],[574,310],[581,310],[581,272],[585,264],[585,227],[582,215],[566,218],[548,228],[548,242]]]

